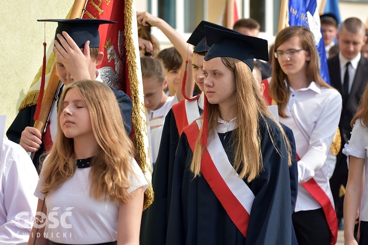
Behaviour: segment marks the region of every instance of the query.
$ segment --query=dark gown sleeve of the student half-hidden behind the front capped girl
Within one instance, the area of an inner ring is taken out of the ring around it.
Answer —
[[[171,185],[179,132],[172,109],[165,117],[158,157],[152,174],[155,200],[142,214],[140,244],[165,244]]]

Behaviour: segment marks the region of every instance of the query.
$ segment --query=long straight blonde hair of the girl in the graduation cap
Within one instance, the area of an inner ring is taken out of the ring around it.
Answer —
[[[263,121],[269,132],[266,118],[276,122],[270,115],[265,100],[260,93],[259,86],[255,81],[250,68],[238,59],[230,57],[221,57],[222,63],[231,70],[233,80],[236,84],[235,104],[229,110],[234,110],[237,117],[237,129],[233,131],[234,137],[234,168],[239,172],[239,177],[247,178],[247,181],[252,181],[263,169],[263,160],[261,152],[261,136],[260,136],[260,121]],[[218,104],[206,104],[208,106],[208,136],[213,139],[217,119],[220,117],[220,109]],[[290,160],[289,141],[285,136],[283,129],[280,126],[284,141],[288,149],[288,163]],[[190,170],[194,176],[200,174],[201,158],[204,147],[201,146],[200,140],[203,134],[203,126],[200,128],[200,133],[197,139],[196,147],[193,152],[193,160]],[[269,133],[271,140],[273,134]],[[274,144],[275,145],[275,144]],[[275,145],[278,150],[277,146]],[[282,156],[285,157],[285,156]]]

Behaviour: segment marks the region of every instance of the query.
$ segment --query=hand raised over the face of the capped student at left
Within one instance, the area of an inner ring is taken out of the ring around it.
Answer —
[[[70,73],[74,80],[91,79],[89,65],[91,56],[89,52],[89,41],[84,45],[83,51],[79,49],[74,40],[63,31],[63,35],[57,34],[57,40],[54,40],[53,51],[65,69]]]

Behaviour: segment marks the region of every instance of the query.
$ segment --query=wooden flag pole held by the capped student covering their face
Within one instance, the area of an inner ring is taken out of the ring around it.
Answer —
[[[80,14],[84,7],[86,0],[75,0],[73,3],[72,10],[70,12],[69,19],[80,18]],[[34,123],[33,127],[37,128],[40,133],[43,133],[47,120],[49,119],[51,107],[53,105],[53,99],[55,97],[57,87],[59,86],[59,76],[57,75],[55,62],[51,70],[50,79],[47,83],[47,87],[42,100],[42,107],[39,119]]]

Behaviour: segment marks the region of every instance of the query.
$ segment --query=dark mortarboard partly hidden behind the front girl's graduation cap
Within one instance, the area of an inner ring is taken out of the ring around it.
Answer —
[[[186,41],[187,43],[195,46],[193,52],[196,53],[207,52],[210,49],[210,46],[206,44],[205,25],[217,29],[230,30],[226,27],[223,27],[222,25],[216,25],[208,21],[201,21],[193,31],[192,35],[190,35],[188,41]]]

